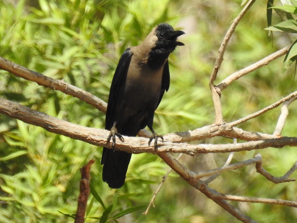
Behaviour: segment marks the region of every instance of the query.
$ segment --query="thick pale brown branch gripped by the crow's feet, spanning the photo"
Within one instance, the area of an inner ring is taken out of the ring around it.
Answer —
[[[106,139],[109,135],[108,130],[89,128],[69,123],[67,121],[52,117],[48,114],[26,108],[25,106],[3,98],[0,98],[0,113],[16,118],[25,123],[40,126],[49,132],[88,142],[92,145],[106,146]],[[285,145],[297,146],[297,137],[285,136],[275,139],[219,145],[173,143],[165,138],[164,142],[158,143],[159,147],[158,151],[156,152],[154,150],[154,146],[148,145],[147,138],[128,136],[124,137],[124,142],[117,140],[116,149],[132,153],[173,152],[186,153],[190,156],[195,156],[198,153],[230,153],[236,151],[250,151],[267,147],[281,148]]]

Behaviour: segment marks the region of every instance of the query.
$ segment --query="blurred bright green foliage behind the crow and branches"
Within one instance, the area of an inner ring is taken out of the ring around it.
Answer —
[[[241,11],[241,0],[0,0],[0,55],[52,78],[80,87],[107,101],[121,53],[139,44],[161,22],[187,33],[186,45],[170,55],[171,83],[154,119],[159,134],[187,131],[214,121],[208,87],[217,51],[230,22]],[[266,20],[267,1],[253,5],[236,28],[216,83],[272,52],[294,42],[274,33]],[[275,21],[274,21],[275,20]],[[273,17],[273,24],[280,22]],[[256,112],[296,90],[293,70],[282,74],[282,59],[240,78],[223,91],[227,122]],[[104,128],[105,115],[89,104],[0,70],[0,95],[31,109],[79,125]],[[272,134],[280,108],[239,127]],[[296,136],[296,103],[290,106],[284,136]],[[197,143],[232,143],[222,137]],[[59,212],[74,214],[79,193],[79,168],[95,159],[91,182],[110,216],[149,203],[168,167],[151,154],[133,155],[126,183],[110,189],[102,182],[102,148],[56,135],[40,127],[0,115],[0,222],[72,222]],[[235,153],[233,162],[263,156],[264,167],[282,176],[296,162],[296,148],[269,148]],[[184,155],[181,162],[194,171],[217,168],[228,154]],[[292,177],[297,177],[296,173]],[[211,184],[227,194],[296,200],[296,182],[274,185],[244,167],[223,173]],[[102,205],[90,195],[86,222],[98,222]],[[259,222],[296,222],[295,208],[231,202]],[[118,222],[238,222],[213,201],[170,174],[147,216],[145,209]],[[111,220],[110,222],[113,222]]]

